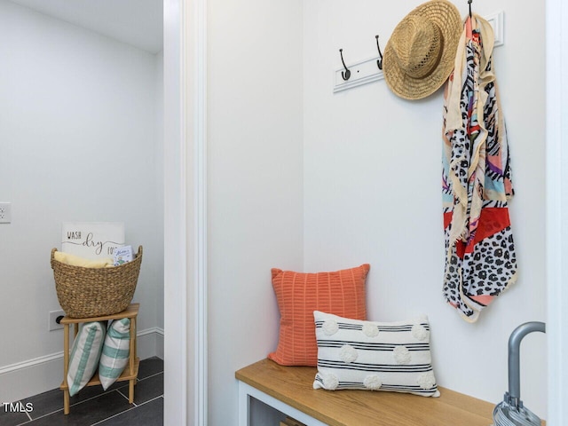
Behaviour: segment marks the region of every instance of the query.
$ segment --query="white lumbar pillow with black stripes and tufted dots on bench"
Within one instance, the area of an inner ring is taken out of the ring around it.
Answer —
[[[318,342],[314,389],[391,390],[438,397],[426,315],[399,322],[313,312]]]

